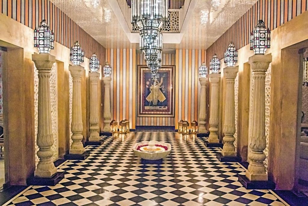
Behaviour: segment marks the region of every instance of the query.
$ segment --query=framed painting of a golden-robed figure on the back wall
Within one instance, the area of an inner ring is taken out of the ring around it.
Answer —
[[[162,66],[158,79],[146,65],[138,65],[137,78],[137,115],[174,116],[174,66]]]

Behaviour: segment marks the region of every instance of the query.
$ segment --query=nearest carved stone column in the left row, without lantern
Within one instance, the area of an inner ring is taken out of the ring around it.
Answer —
[[[37,155],[39,164],[34,171],[35,177],[50,178],[57,173],[52,160],[54,151],[51,147],[54,138],[51,127],[50,104],[50,71],[55,63],[55,57],[50,54],[32,54],[32,60],[38,70],[39,100],[38,100],[38,134],[36,144],[39,146]]]

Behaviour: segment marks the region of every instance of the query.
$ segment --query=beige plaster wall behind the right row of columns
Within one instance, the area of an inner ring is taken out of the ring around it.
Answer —
[[[308,12],[295,17],[271,33],[271,48],[266,54],[273,56],[270,81],[270,112],[268,141],[268,174],[276,183],[277,189],[290,190],[294,187],[296,173],[296,138],[299,83],[298,43],[308,40]],[[290,47],[292,46],[292,47]],[[238,50],[239,89],[238,89],[238,133],[237,153],[243,160],[247,158],[250,66],[248,58],[253,56],[249,45]],[[221,67],[226,65],[221,60]],[[223,78],[221,69],[221,78]],[[222,97],[225,98],[224,81]],[[220,108],[224,107],[221,101]],[[221,112],[221,124],[223,115]]]

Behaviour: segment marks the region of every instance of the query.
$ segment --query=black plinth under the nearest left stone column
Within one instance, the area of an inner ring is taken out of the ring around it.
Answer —
[[[27,185],[55,186],[64,178],[64,173],[65,172],[57,172],[50,178],[34,177],[34,174],[32,174],[27,178]]]

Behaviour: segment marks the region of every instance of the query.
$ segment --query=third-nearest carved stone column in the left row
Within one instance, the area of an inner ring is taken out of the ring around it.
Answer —
[[[89,141],[99,141],[99,126],[98,126],[98,81],[99,81],[100,74],[98,72],[90,72],[89,73],[89,80],[90,80],[90,137]]]

